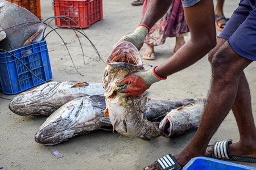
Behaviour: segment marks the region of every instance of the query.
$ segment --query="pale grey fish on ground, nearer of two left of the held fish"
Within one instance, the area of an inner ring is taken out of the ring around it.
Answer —
[[[112,130],[112,124],[103,114],[105,108],[105,97],[100,95],[69,101],[40,126],[35,141],[44,145],[56,145],[97,129]]]

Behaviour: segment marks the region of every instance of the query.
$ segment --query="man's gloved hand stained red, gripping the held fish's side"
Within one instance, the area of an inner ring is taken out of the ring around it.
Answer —
[[[125,78],[117,81],[117,94],[122,97],[141,96],[144,91],[150,88],[151,84],[165,80],[155,73],[155,66],[148,71],[138,71],[137,73],[127,75]]]

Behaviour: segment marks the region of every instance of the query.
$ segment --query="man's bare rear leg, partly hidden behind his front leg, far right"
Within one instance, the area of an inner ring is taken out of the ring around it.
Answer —
[[[216,53],[216,50],[226,42],[225,39],[218,38],[217,46],[208,54],[209,62],[212,62],[212,57]],[[240,141],[229,145],[230,155],[232,156],[251,156],[256,158],[256,128],[253,119],[253,113],[251,111],[251,96],[250,88],[242,72],[240,82],[238,85],[236,100],[232,107],[232,111],[237,121],[238,130],[240,133]],[[245,124],[246,122],[246,124]],[[212,152],[212,147],[208,148],[208,153]]]

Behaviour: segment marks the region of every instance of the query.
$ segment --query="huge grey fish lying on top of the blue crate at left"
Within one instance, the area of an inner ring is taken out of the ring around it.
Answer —
[[[0,27],[6,33],[6,38],[0,41],[0,49],[7,51],[41,41],[42,30],[45,28],[44,24],[26,8],[5,0],[0,0]],[[36,32],[39,32],[38,35]]]

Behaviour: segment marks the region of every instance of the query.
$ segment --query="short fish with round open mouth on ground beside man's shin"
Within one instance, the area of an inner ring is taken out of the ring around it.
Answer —
[[[205,99],[172,110],[160,122],[159,128],[163,137],[177,137],[185,132],[198,128],[205,105]]]

